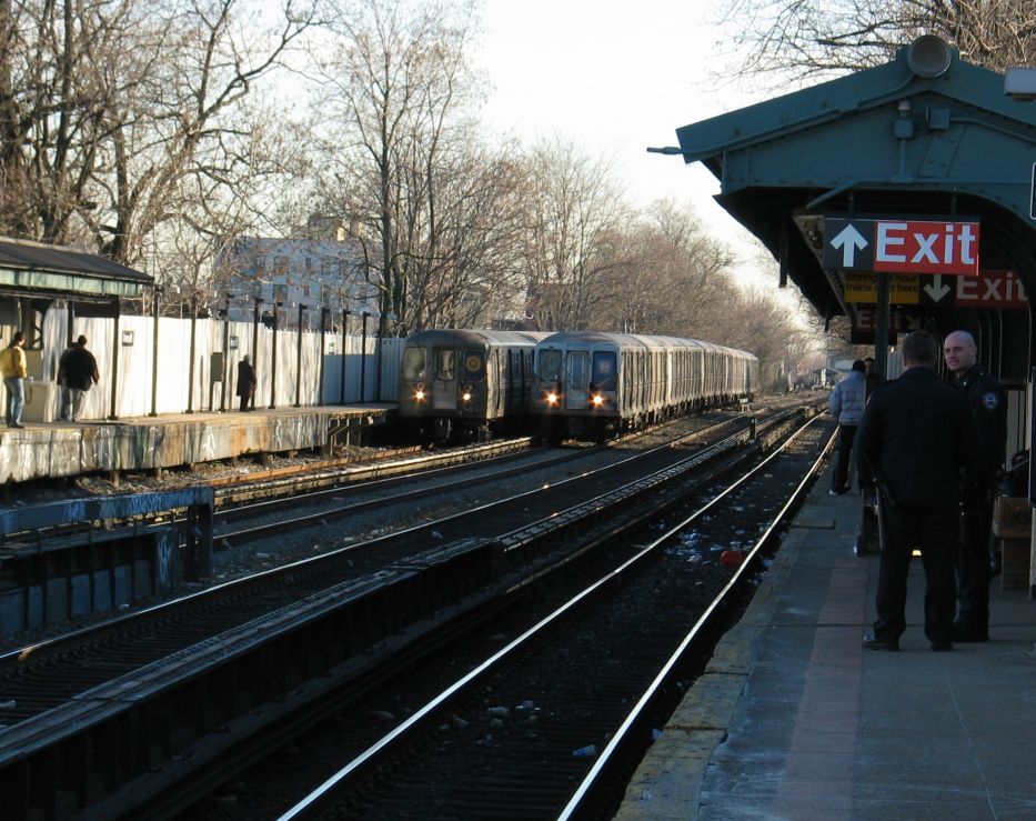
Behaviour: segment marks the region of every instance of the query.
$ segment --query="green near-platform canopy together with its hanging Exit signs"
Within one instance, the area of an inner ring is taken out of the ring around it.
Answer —
[[[1036,294],[1036,103],[1006,96],[1004,81],[927,36],[885,66],[678,128],[680,148],[663,151],[705,163],[721,182],[717,201],[771,250],[782,279],[825,317],[848,317],[859,342],[874,277],[846,263],[858,261],[854,248],[873,252],[874,227],[911,226],[894,241],[922,234],[907,259],[924,261],[977,222],[973,276],[883,268],[903,274],[893,319],[897,330],[967,328],[996,349],[996,370],[1024,377],[1036,361],[1024,292]],[[869,239],[855,224],[839,238],[854,222],[869,226]]]

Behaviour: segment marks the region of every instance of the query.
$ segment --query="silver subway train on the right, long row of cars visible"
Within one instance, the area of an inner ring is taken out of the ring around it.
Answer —
[[[670,417],[752,399],[758,360],[672,337],[574,331],[536,343],[532,411],[540,432],[602,441]]]

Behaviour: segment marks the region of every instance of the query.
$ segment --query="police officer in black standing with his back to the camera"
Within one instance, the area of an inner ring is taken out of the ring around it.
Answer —
[[[908,333],[901,352],[903,376],[874,391],[857,433],[859,487],[877,485],[884,525],[877,619],[863,645],[899,649],[916,547],[925,568],[925,635],[933,650],[950,650],[957,478],[962,469],[975,468],[975,425],[964,393],[935,372],[938,343],[931,333]]]

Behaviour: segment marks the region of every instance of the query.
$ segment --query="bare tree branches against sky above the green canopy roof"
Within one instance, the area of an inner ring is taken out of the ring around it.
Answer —
[[[1003,71],[1036,53],[1030,0],[730,0],[745,47],[738,73],[799,79],[887,62],[923,33]]]

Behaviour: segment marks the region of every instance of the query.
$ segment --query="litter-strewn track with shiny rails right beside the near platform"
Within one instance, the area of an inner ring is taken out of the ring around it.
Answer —
[[[467,662],[470,671],[359,751],[281,821],[610,818],[652,728],[678,700],[674,681],[690,675],[690,651],[744,593],[831,441],[815,437],[782,467],[774,467],[781,451],[772,453],[646,543],[616,550],[613,569],[535,623],[512,625],[519,634],[504,648]],[[743,513],[735,494],[763,471],[777,473],[777,483],[796,480],[752,537],[740,540],[747,542],[744,561],[730,572],[687,562],[700,555],[686,548],[688,529],[710,514]],[[688,609],[688,584],[713,594]],[[349,724],[340,729],[340,738],[351,737]],[[314,765],[313,757],[308,763]]]

